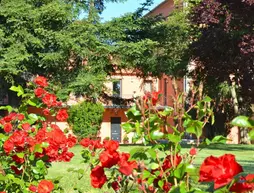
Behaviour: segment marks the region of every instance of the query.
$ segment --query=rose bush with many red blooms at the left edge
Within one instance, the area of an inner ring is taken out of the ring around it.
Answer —
[[[44,115],[59,121],[68,118],[67,111],[42,76],[28,83],[27,92],[21,86],[11,90],[22,97],[22,104],[17,109],[1,107],[8,113],[0,119],[0,191],[50,193],[59,187],[53,179],[45,180],[48,168],[52,162],[71,160],[74,154],[69,148],[76,137],[45,121],[43,115],[29,113],[27,106],[44,108]]]

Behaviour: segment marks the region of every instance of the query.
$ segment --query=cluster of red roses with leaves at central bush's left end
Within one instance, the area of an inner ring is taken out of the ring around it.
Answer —
[[[84,138],[80,144],[85,148],[82,157],[90,164],[91,186],[102,188],[104,184],[115,191],[124,189],[129,191],[129,180],[133,172],[138,168],[135,160],[130,160],[130,154],[119,152],[119,143],[113,140],[99,140]],[[108,175],[106,175],[106,173]]]

